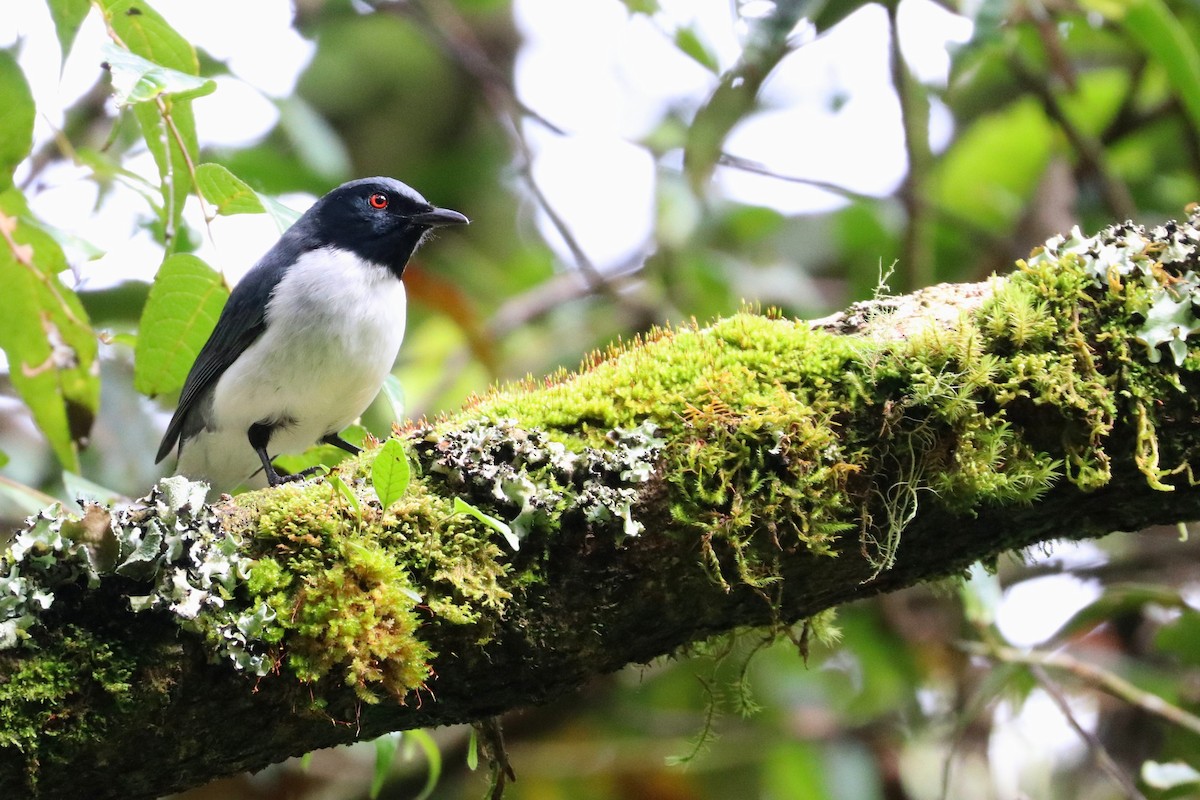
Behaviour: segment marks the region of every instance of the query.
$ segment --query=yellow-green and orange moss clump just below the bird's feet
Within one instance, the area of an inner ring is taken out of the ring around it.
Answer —
[[[286,664],[302,681],[332,678],[366,702],[403,700],[430,675],[421,625],[476,625],[503,613],[500,551],[446,500],[419,486],[379,509],[361,477],[343,475],[356,507],[329,483],[239,498],[260,553],[239,593],[210,616],[235,660]]]

